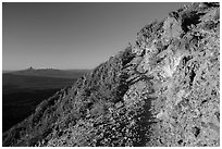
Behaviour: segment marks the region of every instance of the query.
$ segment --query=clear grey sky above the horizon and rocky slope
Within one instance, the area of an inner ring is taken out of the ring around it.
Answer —
[[[3,3],[2,69],[94,69],[184,3]]]

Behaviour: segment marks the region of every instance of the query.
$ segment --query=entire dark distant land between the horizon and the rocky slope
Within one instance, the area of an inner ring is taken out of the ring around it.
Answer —
[[[42,100],[70,87],[87,71],[24,70],[2,74],[3,132],[21,122]]]

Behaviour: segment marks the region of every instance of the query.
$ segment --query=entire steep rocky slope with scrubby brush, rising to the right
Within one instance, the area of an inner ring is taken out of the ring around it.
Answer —
[[[3,146],[220,146],[220,5],[193,3],[41,102]]]

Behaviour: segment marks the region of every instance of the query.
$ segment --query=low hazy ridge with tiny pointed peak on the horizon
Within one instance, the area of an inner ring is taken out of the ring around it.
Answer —
[[[15,75],[25,76],[47,76],[47,77],[59,77],[59,78],[78,78],[83,74],[89,72],[89,70],[54,70],[54,69],[39,69],[35,70],[29,67],[27,70],[8,72]]]

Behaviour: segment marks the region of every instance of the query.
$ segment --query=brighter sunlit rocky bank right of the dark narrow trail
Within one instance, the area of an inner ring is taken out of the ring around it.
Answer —
[[[160,83],[156,85],[156,101],[161,102],[156,114],[159,120],[155,125],[159,128],[153,137],[159,139],[156,146],[219,146],[220,142],[217,116],[220,113],[219,10],[202,4],[195,7],[197,10],[187,8],[186,15],[181,15],[194,20],[189,26],[182,26],[183,21],[172,17],[163,22],[160,42],[168,46],[157,53],[160,62],[153,66],[158,71],[152,71],[157,72],[152,75]],[[182,32],[182,28],[186,29]],[[217,57],[212,58],[212,54]],[[146,62],[148,65],[149,59]]]

